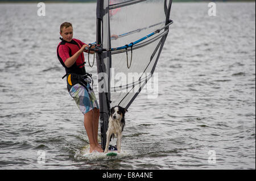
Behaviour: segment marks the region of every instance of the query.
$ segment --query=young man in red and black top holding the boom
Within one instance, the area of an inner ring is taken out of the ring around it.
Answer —
[[[73,39],[73,27],[65,22],[60,26],[61,42],[57,46],[57,57],[64,66],[69,94],[84,114],[84,127],[89,138],[90,153],[103,152],[98,144],[98,119],[100,111],[96,96],[90,86],[90,75],[85,71],[84,52],[89,45]],[[94,53],[90,51],[90,53]]]

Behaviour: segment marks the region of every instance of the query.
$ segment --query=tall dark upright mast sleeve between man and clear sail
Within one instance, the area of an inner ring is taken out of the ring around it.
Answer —
[[[109,0],[97,0],[97,45],[110,48]],[[110,52],[100,52],[96,55],[98,71],[98,95],[100,103],[101,145],[105,149],[106,131],[110,112]]]

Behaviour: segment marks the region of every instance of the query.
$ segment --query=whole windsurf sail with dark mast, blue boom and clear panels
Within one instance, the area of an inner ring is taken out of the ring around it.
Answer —
[[[128,109],[154,73],[172,24],[171,5],[172,0],[97,0],[93,50],[97,53],[102,149],[110,108]]]

